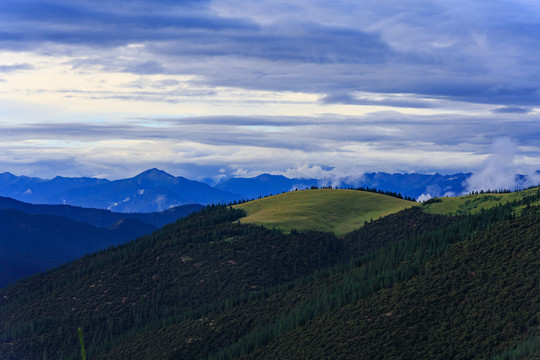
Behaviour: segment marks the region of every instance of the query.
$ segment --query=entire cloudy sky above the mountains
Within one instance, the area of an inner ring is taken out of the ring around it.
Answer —
[[[540,169],[538,34],[532,0],[3,0],[0,172],[500,182]]]

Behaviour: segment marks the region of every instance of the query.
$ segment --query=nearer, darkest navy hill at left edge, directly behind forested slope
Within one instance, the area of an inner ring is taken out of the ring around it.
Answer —
[[[65,217],[0,210],[0,287],[62,265],[89,252],[118,245],[155,227],[136,219],[100,228]]]

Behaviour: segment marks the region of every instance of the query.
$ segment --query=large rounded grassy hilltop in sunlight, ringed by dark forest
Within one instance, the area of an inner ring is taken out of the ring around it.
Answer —
[[[316,230],[344,235],[378,219],[413,206],[392,196],[358,190],[317,189],[293,191],[236,205],[246,224],[283,231]]]

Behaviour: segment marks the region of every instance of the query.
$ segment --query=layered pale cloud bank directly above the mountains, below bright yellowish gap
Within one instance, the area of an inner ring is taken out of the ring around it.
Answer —
[[[86,168],[84,175],[91,171],[109,177],[159,165],[194,178],[225,169],[228,176],[305,172],[337,179],[364,171],[469,171],[492,151],[493,139],[504,136],[520,139],[520,156],[528,157],[530,166],[540,166],[534,161],[540,155],[540,125],[535,121],[397,112],[12,125],[0,127],[0,162],[11,164],[9,169],[26,169],[29,162],[20,159],[41,167],[67,158],[73,171]]]

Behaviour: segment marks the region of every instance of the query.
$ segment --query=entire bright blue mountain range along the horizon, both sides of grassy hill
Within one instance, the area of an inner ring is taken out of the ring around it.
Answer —
[[[354,183],[340,187],[370,187],[418,198],[422,194],[459,195],[470,174],[423,175],[366,173]],[[217,204],[279,194],[294,189],[324,186],[319,179],[287,178],[261,174],[253,178],[230,178],[215,186],[150,169],[133,178],[110,181],[97,178],[46,180],[0,174],[0,196],[33,204],[68,204],[115,212],[155,212],[186,204]]]

